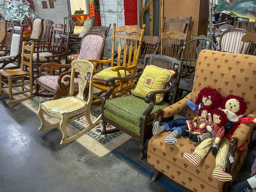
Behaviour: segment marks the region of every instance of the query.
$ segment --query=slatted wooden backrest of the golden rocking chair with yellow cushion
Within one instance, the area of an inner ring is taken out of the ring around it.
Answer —
[[[114,66],[115,50],[117,50],[117,66],[129,67],[135,65],[137,68],[141,44],[145,33],[146,26],[142,29],[137,26],[121,26],[116,27],[113,23],[112,49],[111,49],[111,65]],[[117,42],[117,49],[115,44]],[[123,59],[121,59],[123,57]],[[131,75],[135,74],[135,70],[131,71]]]

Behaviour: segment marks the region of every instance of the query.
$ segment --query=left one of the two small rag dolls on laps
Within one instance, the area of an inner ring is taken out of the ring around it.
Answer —
[[[210,106],[203,106],[198,110],[197,116],[193,120],[187,120],[188,131],[185,130],[182,132],[183,137],[192,139],[194,135],[205,133],[206,126],[208,123],[208,114],[211,113],[212,108]]]

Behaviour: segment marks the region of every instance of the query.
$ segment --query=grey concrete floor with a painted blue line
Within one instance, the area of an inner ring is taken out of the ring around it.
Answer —
[[[162,175],[151,181],[153,166],[140,161],[131,139],[99,158],[76,141],[60,145],[58,129],[38,131],[37,114],[0,97],[0,191],[190,191]],[[256,156],[251,148],[235,182],[250,177]]]

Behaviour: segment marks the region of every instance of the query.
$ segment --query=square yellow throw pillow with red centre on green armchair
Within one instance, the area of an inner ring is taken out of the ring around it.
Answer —
[[[175,75],[174,70],[148,65],[143,70],[133,94],[145,98],[150,91],[165,89]],[[162,102],[164,94],[156,95],[156,103]]]

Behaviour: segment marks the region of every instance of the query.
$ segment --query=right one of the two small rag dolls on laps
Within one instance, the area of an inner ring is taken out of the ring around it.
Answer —
[[[212,121],[206,125],[207,132],[201,135],[194,135],[192,140],[194,142],[200,142],[207,138],[212,138],[212,154],[216,155],[219,150],[220,140],[225,133],[225,126],[227,124],[227,115],[224,111],[215,108],[211,111]]]

